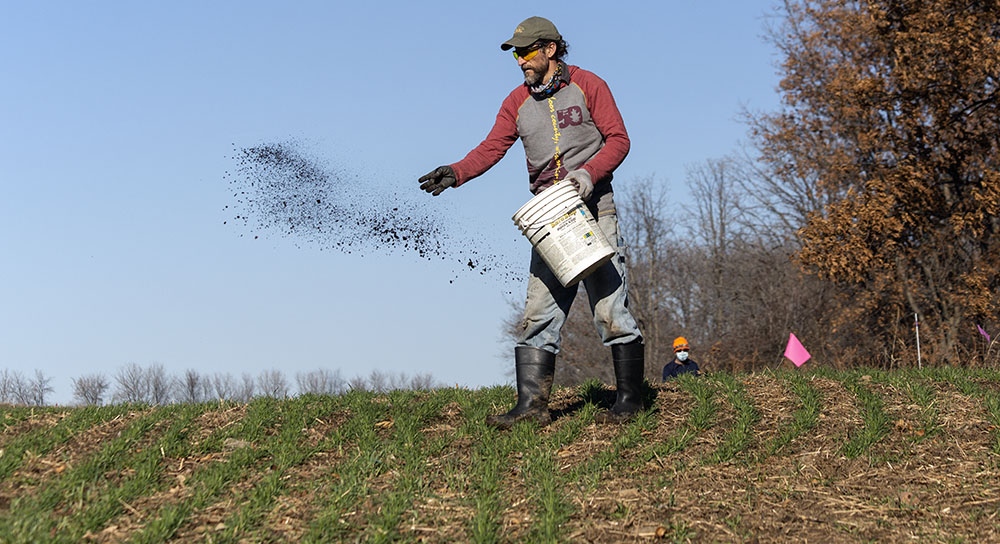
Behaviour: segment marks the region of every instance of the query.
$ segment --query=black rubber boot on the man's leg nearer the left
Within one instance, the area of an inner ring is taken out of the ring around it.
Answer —
[[[497,416],[487,416],[486,424],[497,429],[509,429],[518,421],[531,420],[545,426],[552,423],[549,415],[549,391],[556,370],[556,355],[544,349],[518,346],[514,348],[514,372],[517,375],[517,405]]]

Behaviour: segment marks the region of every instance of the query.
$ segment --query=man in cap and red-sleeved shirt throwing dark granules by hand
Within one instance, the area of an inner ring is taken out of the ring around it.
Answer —
[[[529,17],[500,45],[513,49],[524,84],[500,106],[486,139],[464,159],[420,178],[420,188],[441,194],[481,175],[500,161],[518,138],[528,159],[528,181],[538,194],[571,182],[616,254],[583,280],[594,324],[611,347],[618,392],[614,406],[598,414],[602,423],[623,422],[642,408],[642,334],[627,307],[624,242],[618,232],[612,172],[629,151],[628,133],[608,85],[591,72],[563,62],[566,42],[552,22]],[[521,420],[551,422],[549,392],[561,330],[577,286],[564,287],[534,249],[524,319],[514,348],[517,405],[487,423],[506,429]]]

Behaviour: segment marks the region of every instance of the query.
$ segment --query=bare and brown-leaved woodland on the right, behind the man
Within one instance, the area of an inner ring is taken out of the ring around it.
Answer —
[[[997,363],[1000,3],[779,10],[782,104],[744,112],[746,147],[692,165],[690,200],[616,181],[648,376],[676,336],[712,369],[782,364],[790,332],[811,364],[915,366],[915,317],[924,365]],[[610,382],[585,303],[563,332],[557,383]]]

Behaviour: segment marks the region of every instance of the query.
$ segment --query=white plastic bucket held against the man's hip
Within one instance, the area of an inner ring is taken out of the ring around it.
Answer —
[[[615,254],[572,183],[557,183],[538,193],[513,219],[566,287],[590,275]]]

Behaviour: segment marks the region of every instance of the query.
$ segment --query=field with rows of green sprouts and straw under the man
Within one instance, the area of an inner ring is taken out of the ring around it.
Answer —
[[[0,408],[0,542],[1000,540],[1000,373],[713,374],[597,426],[509,387]]]

